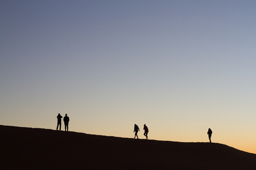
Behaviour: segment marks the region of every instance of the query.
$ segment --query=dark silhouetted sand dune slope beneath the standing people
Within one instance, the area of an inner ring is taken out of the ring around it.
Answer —
[[[2,125],[0,135],[0,166],[5,170],[256,169],[256,154],[220,143],[146,140]]]

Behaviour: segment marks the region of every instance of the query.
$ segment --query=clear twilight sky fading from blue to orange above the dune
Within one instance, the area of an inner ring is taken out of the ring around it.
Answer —
[[[1,0],[0,125],[256,153],[255,6]]]

